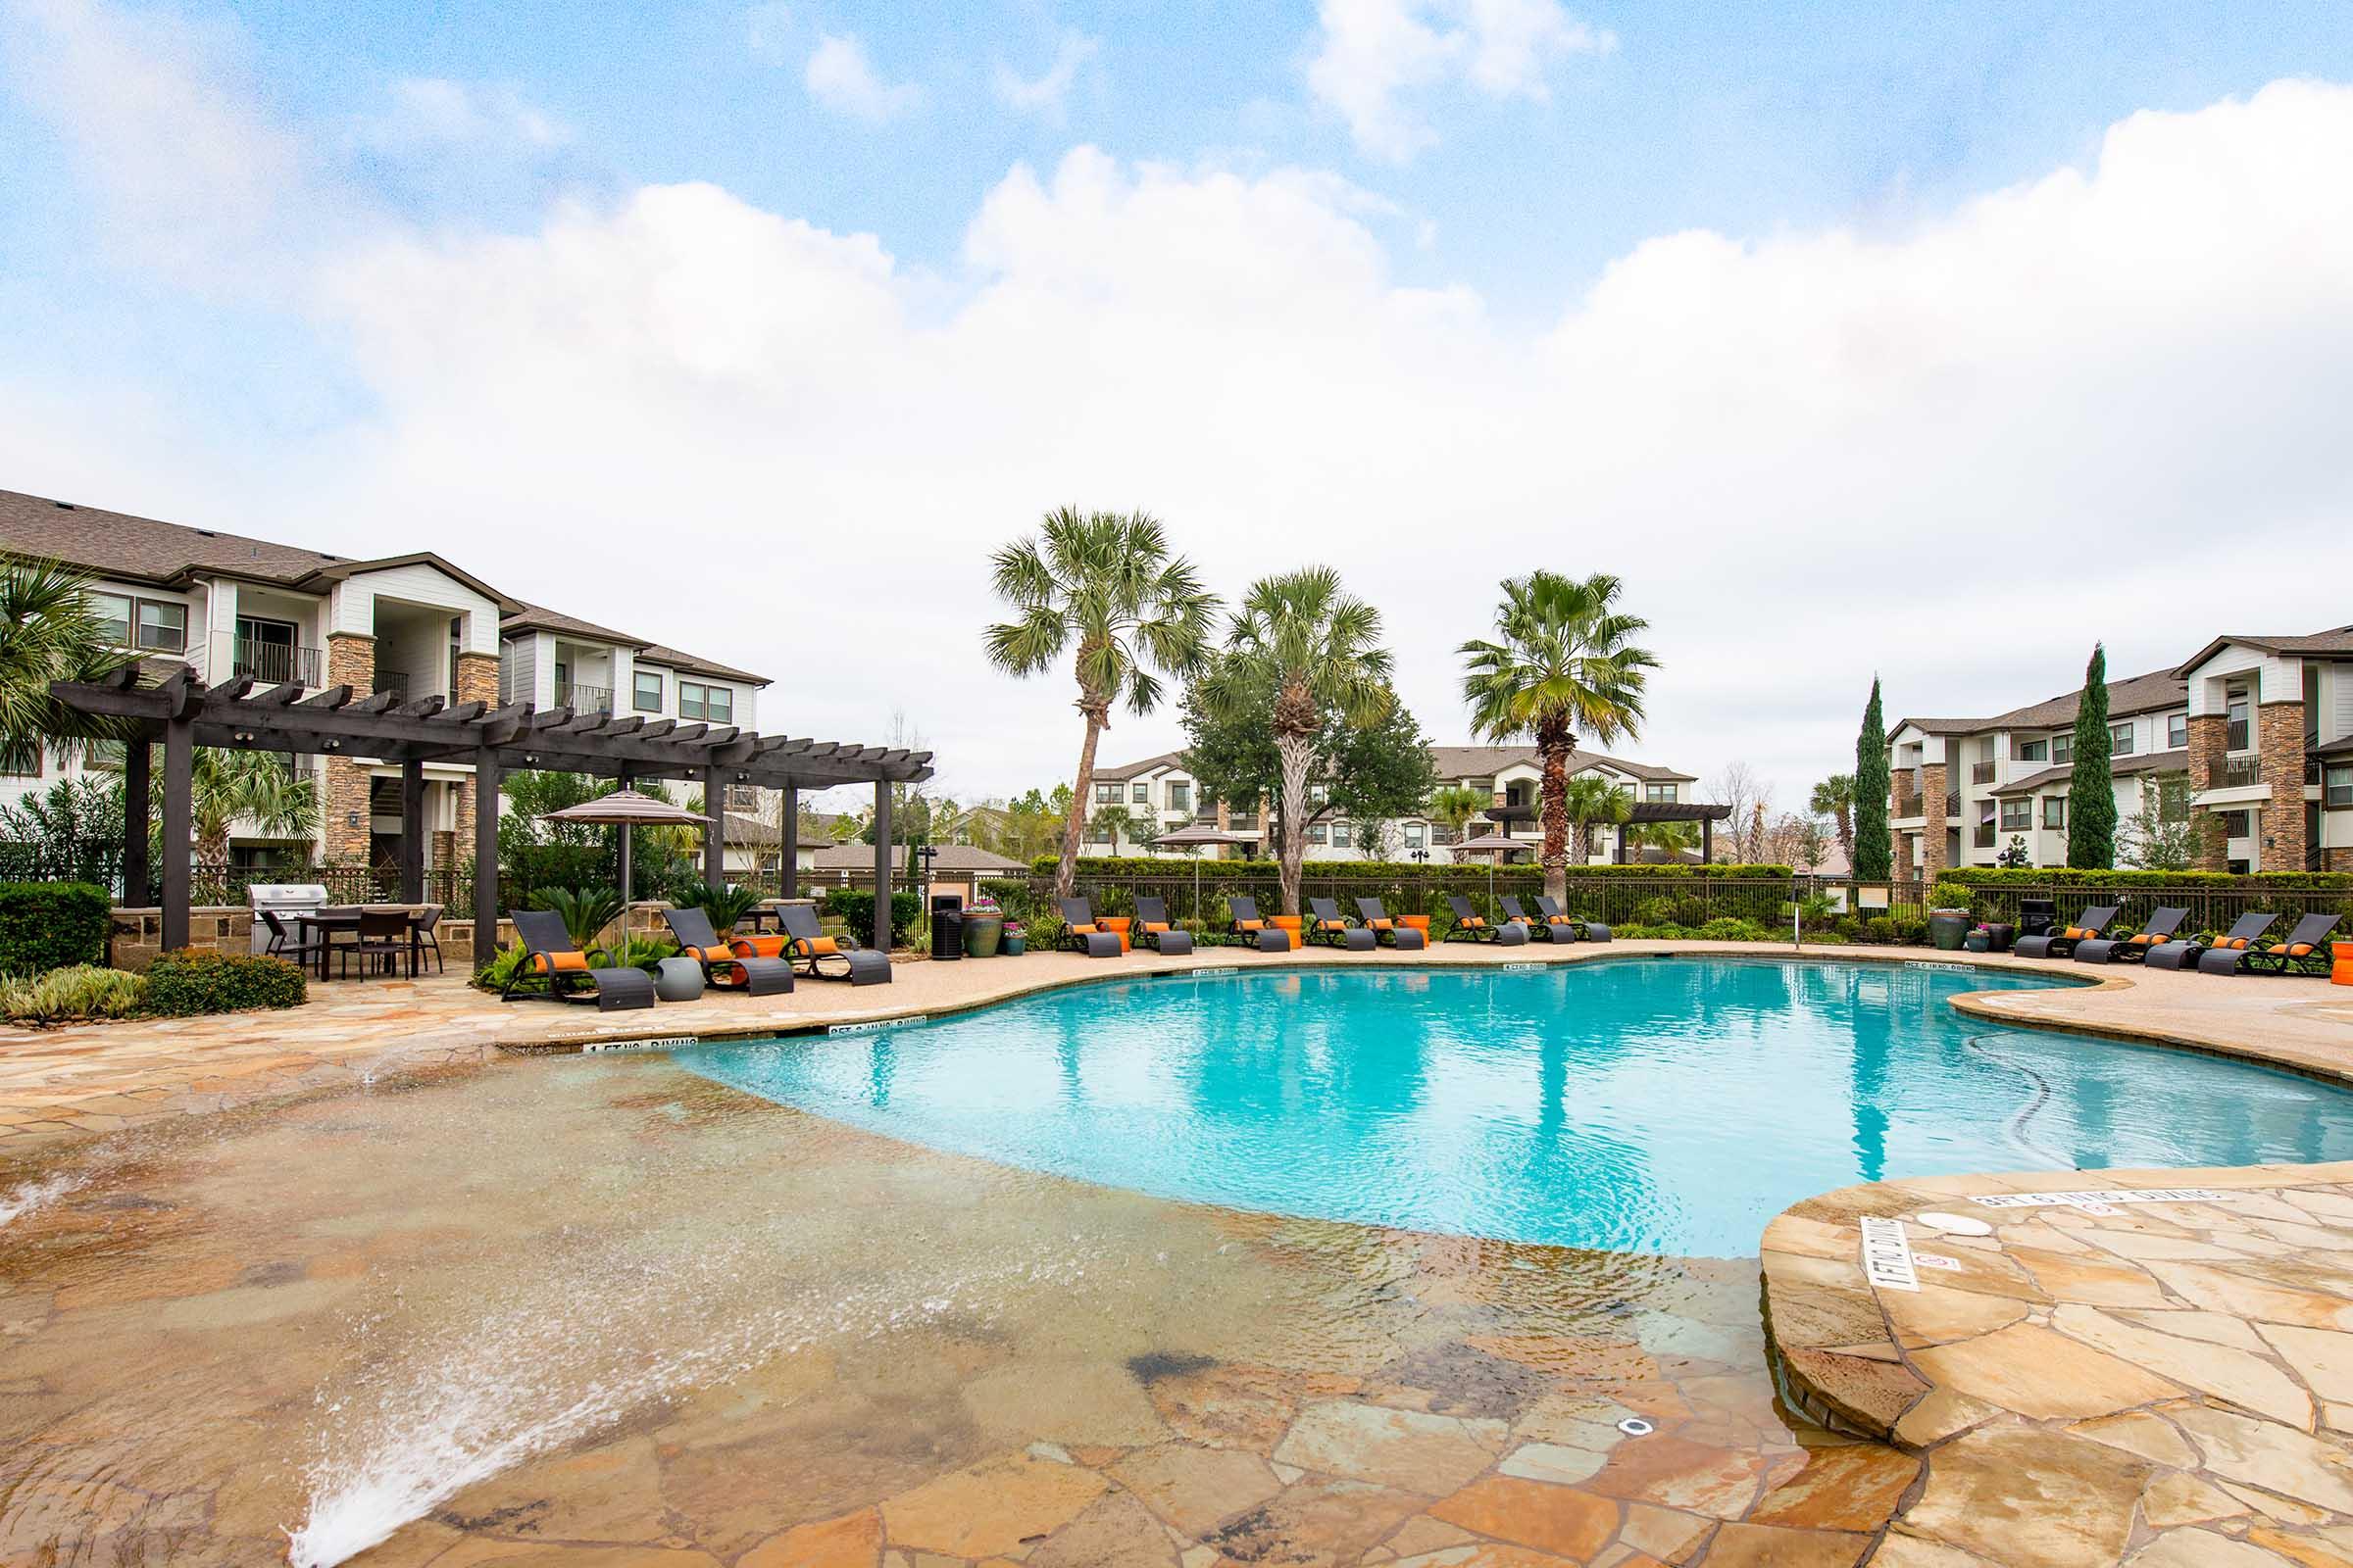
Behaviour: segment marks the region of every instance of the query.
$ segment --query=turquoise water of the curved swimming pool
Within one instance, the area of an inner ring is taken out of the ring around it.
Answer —
[[[1612,1251],[1753,1255],[1887,1175],[2353,1159],[2353,1093],[1995,1030],[2049,980],[1774,959],[1139,978],[878,1034],[680,1051],[939,1150],[1172,1199]]]

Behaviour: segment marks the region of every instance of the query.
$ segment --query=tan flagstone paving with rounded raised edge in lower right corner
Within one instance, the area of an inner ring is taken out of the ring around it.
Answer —
[[[2353,1164],[1845,1187],[1762,1255],[1798,1399],[1925,1460],[1873,1563],[2353,1563]]]

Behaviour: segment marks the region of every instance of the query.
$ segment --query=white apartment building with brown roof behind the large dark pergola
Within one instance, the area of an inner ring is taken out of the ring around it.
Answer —
[[[767,686],[746,670],[508,597],[431,552],[348,559],[16,491],[0,491],[0,552],[87,571],[92,599],[125,649],[184,661],[207,684],[348,684],[409,703],[572,705],[739,729],[755,729]],[[59,766],[42,757],[35,773],[0,778],[0,799],[45,788]],[[320,783],[315,842],[233,832],[233,858],[395,860],[395,764],[336,755],[289,766]],[[748,790],[725,804],[762,811]],[[473,769],[426,764],[426,865],[454,863],[459,846],[473,844]]]

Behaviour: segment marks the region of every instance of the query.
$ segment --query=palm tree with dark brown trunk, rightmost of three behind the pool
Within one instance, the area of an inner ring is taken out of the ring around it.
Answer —
[[[1621,614],[1619,581],[1607,571],[1577,581],[1532,571],[1504,583],[1494,611],[1497,642],[1461,644],[1471,729],[1489,741],[1534,736],[1544,762],[1544,891],[1569,891],[1569,752],[1577,731],[1593,741],[1638,733],[1649,649],[1631,639],[1649,621]]]

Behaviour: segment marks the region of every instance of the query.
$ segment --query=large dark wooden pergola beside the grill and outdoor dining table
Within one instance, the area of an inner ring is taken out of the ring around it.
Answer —
[[[146,670],[153,670],[148,665]],[[529,703],[489,708],[440,696],[402,701],[398,693],[353,696],[351,686],[256,686],[233,679],[202,686],[195,670],[172,665],[141,684],[141,665],[106,682],[56,682],[49,693],[94,717],[132,719],[125,748],[122,896],[127,905],[162,907],[162,945],[188,945],[191,783],[195,748],[353,757],[400,764],[400,898],[424,900],[426,764],[471,764],[473,813],[473,929],[475,952],[487,954],[499,931],[499,780],[515,769],[555,769],[619,778],[680,778],[704,790],[704,809],[725,820],[729,783],[784,792],[784,896],[800,889],[795,867],[800,792],[871,783],[875,788],[875,931],[889,950],[892,785],[932,776],[932,752],[838,741],[760,736],[729,724],[680,724],[642,715],[534,710]],[[148,867],[153,780],[148,748],[162,745],[162,896]],[[704,882],[727,879],[727,835],[704,835]]]

